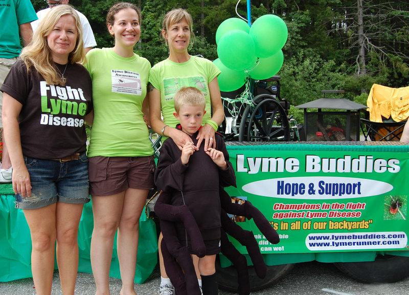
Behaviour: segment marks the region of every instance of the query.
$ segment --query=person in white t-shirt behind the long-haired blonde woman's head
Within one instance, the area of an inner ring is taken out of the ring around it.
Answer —
[[[0,0],[1,1],[1,0]],[[53,9],[53,7],[56,7],[58,5],[65,5],[68,4],[69,0],[47,0],[48,8],[40,10],[37,12],[37,17],[38,20],[35,20],[35,22],[31,23],[31,27],[33,28],[33,32],[38,27],[38,24],[40,23],[41,19],[46,16],[47,12],[50,11],[50,9]],[[97,46],[97,42],[95,41],[94,37],[94,32],[91,29],[91,26],[89,25],[88,19],[86,18],[85,15],[83,15],[81,12],[78,10],[75,10],[78,13],[78,16],[80,17],[81,24],[82,24],[82,31],[83,31],[83,36],[82,40],[84,42],[84,47],[85,47],[85,53],[87,53],[89,50],[91,50],[93,47]]]

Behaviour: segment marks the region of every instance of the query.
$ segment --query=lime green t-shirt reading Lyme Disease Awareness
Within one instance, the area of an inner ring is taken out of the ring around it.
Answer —
[[[124,58],[111,48],[93,49],[85,68],[93,81],[94,124],[88,156],[140,157],[153,154],[143,120],[150,63],[137,54]]]

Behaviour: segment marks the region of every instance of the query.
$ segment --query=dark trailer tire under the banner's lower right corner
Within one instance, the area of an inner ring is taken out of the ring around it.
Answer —
[[[375,261],[337,262],[335,266],[363,283],[393,283],[409,276],[409,257],[378,255]]]

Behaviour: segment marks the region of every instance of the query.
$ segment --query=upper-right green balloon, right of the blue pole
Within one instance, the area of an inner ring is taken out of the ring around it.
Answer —
[[[249,33],[256,46],[256,56],[269,57],[277,53],[287,41],[287,26],[280,17],[265,14],[257,18]]]

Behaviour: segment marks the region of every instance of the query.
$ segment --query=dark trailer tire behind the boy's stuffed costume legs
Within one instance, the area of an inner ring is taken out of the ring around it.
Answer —
[[[248,276],[250,278],[251,291],[257,291],[265,289],[271,285],[276,284],[288,271],[292,269],[294,264],[283,264],[283,265],[267,265],[267,275],[264,279],[257,277],[253,265],[248,266]],[[220,289],[237,292],[237,271],[234,266],[221,267],[220,261],[216,259],[216,275],[217,284]]]

